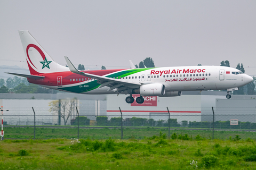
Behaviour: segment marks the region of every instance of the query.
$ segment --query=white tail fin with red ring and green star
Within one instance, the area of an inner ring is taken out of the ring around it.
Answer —
[[[56,63],[42,48],[28,30],[19,30],[21,43],[25,52],[30,74],[69,71]]]

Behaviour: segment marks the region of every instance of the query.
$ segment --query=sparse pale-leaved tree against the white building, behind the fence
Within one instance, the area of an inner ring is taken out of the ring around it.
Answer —
[[[53,100],[49,103],[49,106],[50,106],[49,111],[56,114],[59,114],[59,108],[60,108],[60,117],[63,119],[64,125],[67,125],[69,117],[73,113],[75,102],[74,102],[74,99],[60,100],[60,107],[59,107],[59,100]]]

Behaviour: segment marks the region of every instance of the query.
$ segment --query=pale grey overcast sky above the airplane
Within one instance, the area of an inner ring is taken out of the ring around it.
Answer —
[[[26,29],[62,65],[63,56],[107,69],[146,57],[156,67],[228,60],[256,74],[256,1],[0,0],[0,21],[0,65],[27,68]]]

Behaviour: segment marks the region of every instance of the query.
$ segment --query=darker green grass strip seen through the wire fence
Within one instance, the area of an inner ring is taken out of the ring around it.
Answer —
[[[168,134],[167,128],[145,128],[145,129],[123,129],[124,139],[145,139],[158,135],[159,132]],[[171,129],[170,134],[188,134],[189,137],[195,138],[197,134],[200,134],[205,139],[212,139],[212,130],[175,130]],[[6,139],[34,139],[34,128],[4,128]],[[229,139],[238,134],[241,138],[256,139],[256,132],[246,131],[214,131],[214,139]],[[120,127],[109,129],[79,129],[79,138],[82,139],[121,139]],[[53,138],[77,138],[77,128],[36,128],[36,139],[53,139]]]

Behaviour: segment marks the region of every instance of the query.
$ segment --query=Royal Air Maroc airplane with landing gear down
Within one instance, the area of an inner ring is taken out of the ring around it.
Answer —
[[[80,71],[65,56],[67,66],[55,62],[37,43],[28,30],[19,30],[30,74],[9,73],[25,77],[30,83],[39,86],[74,92],[77,94],[125,94],[125,101],[138,104],[146,96],[181,96],[182,91],[238,90],[253,81],[253,78],[240,70],[226,66],[175,66],[131,69]]]

